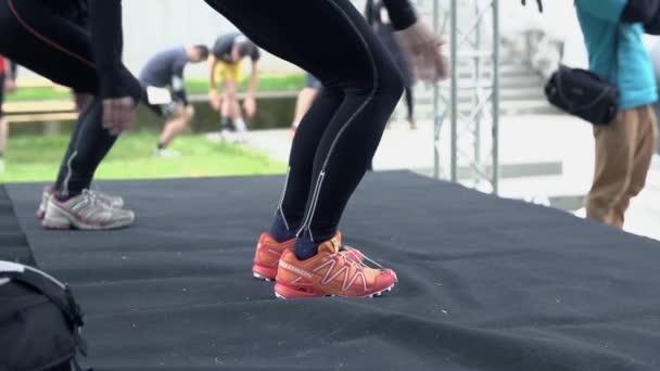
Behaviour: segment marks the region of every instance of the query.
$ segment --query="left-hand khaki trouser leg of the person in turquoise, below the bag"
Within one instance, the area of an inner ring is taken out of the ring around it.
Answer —
[[[622,220],[614,218],[614,206],[631,183],[638,121],[636,110],[625,110],[609,125],[594,128],[596,166],[586,197],[587,217],[594,220],[621,227]]]

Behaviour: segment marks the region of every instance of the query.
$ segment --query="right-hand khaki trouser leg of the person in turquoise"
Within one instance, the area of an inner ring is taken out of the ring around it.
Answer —
[[[627,191],[621,196],[612,210],[612,218],[615,225],[623,226],[625,210],[630,205],[631,199],[637,196],[646,184],[646,176],[651,165],[651,158],[656,150],[658,140],[658,127],[656,114],[652,107],[644,106],[636,108],[639,116],[639,125],[635,133],[634,157],[631,181]]]

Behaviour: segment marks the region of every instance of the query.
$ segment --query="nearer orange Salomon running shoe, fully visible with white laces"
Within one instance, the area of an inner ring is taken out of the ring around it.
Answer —
[[[341,254],[337,239],[326,241],[318,254],[301,261],[292,251],[280,258],[275,284],[279,298],[321,296],[373,297],[392,291],[396,273],[392,269],[373,269]]]

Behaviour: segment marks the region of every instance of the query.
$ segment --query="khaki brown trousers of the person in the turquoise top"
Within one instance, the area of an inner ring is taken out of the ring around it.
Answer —
[[[646,183],[658,128],[651,105],[621,111],[607,126],[594,127],[596,170],[586,197],[587,217],[623,227],[632,197]]]

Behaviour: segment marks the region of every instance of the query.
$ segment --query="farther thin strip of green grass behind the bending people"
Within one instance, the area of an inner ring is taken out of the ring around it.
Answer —
[[[241,84],[241,90],[246,90],[250,79],[246,78]],[[262,76],[259,78],[259,91],[297,91],[305,84],[305,75],[291,74],[282,76]],[[192,79],[186,81],[189,94],[208,93],[208,81],[203,79]],[[53,87],[30,87],[20,88],[16,92],[8,94],[8,102],[18,101],[43,101],[43,100],[66,100],[71,94],[68,90],[54,89]]]

